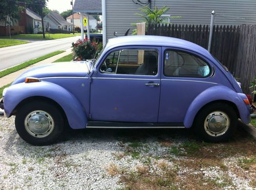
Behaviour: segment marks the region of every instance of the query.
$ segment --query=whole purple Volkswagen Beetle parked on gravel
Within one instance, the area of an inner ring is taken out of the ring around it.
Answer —
[[[22,139],[57,140],[65,127],[190,128],[206,141],[226,140],[250,103],[227,68],[181,39],[125,36],[109,40],[95,61],[39,66],[3,93]]]

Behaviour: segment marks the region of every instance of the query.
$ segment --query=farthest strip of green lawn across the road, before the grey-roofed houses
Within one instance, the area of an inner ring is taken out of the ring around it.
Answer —
[[[68,38],[68,37],[74,37],[76,35],[73,34],[46,34],[46,40],[54,40],[54,39],[60,39],[60,38]],[[44,39],[42,37],[42,34],[19,34],[19,35],[13,35],[12,38],[22,38],[22,39]],[[4,36],[1,38],[8,38],[8,36]]]

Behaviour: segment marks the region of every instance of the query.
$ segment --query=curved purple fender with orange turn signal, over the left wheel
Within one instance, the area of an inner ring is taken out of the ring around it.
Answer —
[[[61,86],[49,82],[19,83],[10,86],[4,101],[6,116],[10,117],[21,101],[33,96],[47,97],[57,102],[65,112],[71,128],[86,127],[86,113],[77,98]]]

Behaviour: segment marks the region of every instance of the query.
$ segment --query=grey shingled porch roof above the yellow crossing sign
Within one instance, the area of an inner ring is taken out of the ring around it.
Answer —
[[[101,0],[76,0],[74,3],[74,12],[101,14]]]

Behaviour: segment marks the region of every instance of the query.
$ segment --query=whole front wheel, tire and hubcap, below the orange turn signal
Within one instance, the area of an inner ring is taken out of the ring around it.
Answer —
[[[15,127],[19,136],[32,145],[50,145],[63,131],[59,109],[48,102],[35,101],[19,107]]]

